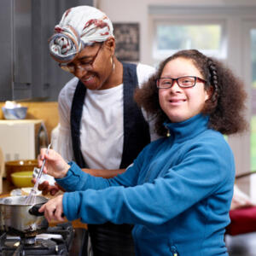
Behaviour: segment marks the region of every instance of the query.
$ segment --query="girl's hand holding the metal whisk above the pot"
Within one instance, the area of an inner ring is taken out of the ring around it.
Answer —
[[[44,173],[56,178],[65,177],[70,166],[55,150],[49,149],[48,154],[46,154],[46,150],[46,148],[41,148],[38,155],[38,166],[41,167],[45,159]]]

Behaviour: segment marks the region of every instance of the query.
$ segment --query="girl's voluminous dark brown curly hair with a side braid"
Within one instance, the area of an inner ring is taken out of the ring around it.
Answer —
[[[203,78],[207,81],[205,90],[212,88],[212,95],[206,101],[202,114],[209,115],[208,126],[223,134],[230,135],[245,131],[247,122],[244,118],[245,100],[247,94],[241,79],[238,79],[230,68],[214,58],[201,54],[196,49],[181,50],[160,63],[154,75],[135,92],[135,101],[155,118],[155,131],[160,136],[166,135],[163,123],[169,120],[160,108],[156,79],[169,61],[184,58],[193,61]],[[170,121],[170,120],[169,120]]]

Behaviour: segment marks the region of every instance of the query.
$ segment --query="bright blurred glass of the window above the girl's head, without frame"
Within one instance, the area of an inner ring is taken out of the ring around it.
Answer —
[[[201,49],[220,50],[220,25],[158,25],[157,49]]]

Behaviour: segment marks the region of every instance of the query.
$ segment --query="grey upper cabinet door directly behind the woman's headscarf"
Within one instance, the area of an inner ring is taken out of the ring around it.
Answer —
[[[63,13],[78,5],[92,5],[93,0],[32,0],[32,97],[57,101],[61,88],[73,75],[58,67],[49,56],[48,39]],[[38,29],[38,27],[40,29]]]

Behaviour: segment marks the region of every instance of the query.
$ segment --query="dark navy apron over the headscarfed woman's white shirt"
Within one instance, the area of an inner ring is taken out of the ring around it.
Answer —
[[[150,143],[148,123],[143,117],[141,108],[133,100],[134,90],[137,88],[137,66],[130,63],[123,64],[124,84],[124,147],[120,169],[129,166],[136,159],[142,149]],[[86,88],[79,81],[73,96],[71,108],[71,132],[73,154],[77,164],[86,168],[80,150],[80,122],[82,118]],[[86,142],[85,142],[86,143]],[[91,244],[94,256],[131,256],[135,255],[131,236],[130,224],[89,224]],[[86,250],[83,250],[85,253]],[[83,254],[86,255],[86,254]]]

